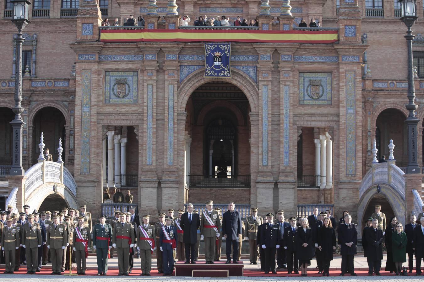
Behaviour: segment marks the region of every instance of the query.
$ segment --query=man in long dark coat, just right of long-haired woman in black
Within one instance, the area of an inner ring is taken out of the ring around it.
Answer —
[[[340,276],[349,272],[350,276],[357,276],[353,264],[353,256],[356,255],[356,244],[358,231],[356,224],[352,223],[352,216],[346,214],[345,223],[338,228],[338,244],[340,245],[340,255],[342,256],[342,267]],[[367,240],[368,242],[368,240]]]

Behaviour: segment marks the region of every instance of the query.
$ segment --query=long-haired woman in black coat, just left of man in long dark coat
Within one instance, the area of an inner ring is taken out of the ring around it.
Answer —
[[[328,217],[324,218],[324,225],[318,229],[317,243],[323,264],[322,276],[330,276],[330,261],[333,260],[333,251],[336,249],[336,232]]]

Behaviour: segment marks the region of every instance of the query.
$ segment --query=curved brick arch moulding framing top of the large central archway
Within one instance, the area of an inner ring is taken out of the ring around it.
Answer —
[[[178,112],[185,112],[187,101],[194,90],[207,82],[213,81],[226,81],[240,88],[249,101],[251,112],[259,112],[259,90],[256,84],[240,71],[232,69],[231,73],[231,78],[209,78],[204,77],[203,70],[194,71],[184,79],[184,82],[179,87]]]

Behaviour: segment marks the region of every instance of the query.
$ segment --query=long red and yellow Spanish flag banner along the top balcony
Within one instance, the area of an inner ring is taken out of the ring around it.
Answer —
[[[338,30],[117,30],[102,29],[101,42],[246,42],[330,44]]]

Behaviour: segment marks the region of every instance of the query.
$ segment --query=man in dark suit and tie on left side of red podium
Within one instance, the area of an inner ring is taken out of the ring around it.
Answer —
[[[185,263],[195,264],[195,244],[197,242],[197,230],[200,227],[200,217],[193,213],[193,204],[187,204],[187,212],[181,216],[180,226],[183,230],[183,241],[185,246]]]

